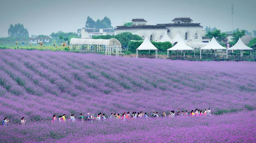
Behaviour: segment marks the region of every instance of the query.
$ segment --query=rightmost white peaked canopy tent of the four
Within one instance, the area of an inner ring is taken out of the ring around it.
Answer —
[[[244,50],[249,50],[250,51],[250,55],[252,55],[252,58],[254,57],[254,51],[252,48],[246,46],[242,40],[239,38],[238,41],[236,42],[236,44],[234,46],[232,46],[231,48],[228,48],[226,51],[226,56],[228,59],[228,51],[233,51],[233,50],[240,50],[240,56],[243,56],[243,52]]]

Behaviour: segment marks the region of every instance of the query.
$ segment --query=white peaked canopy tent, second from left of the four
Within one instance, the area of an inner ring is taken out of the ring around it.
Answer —
[[[183,56],[185,57],[185,53],[188,50],[194,50],[194,49],[188,46],[182,39],[178,41],[177,44],[174,45],[172,48],[167,49],[167,57],[169,57],[169,51],[177,51],[177,54],[178,54],[178,51],[182,51]]]

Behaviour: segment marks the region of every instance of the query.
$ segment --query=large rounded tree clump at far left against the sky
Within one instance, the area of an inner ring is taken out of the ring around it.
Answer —
[[[24,28],[23,24],[11,24],[8,29],[8,35],[13,38],[29,38],[28,30]]]

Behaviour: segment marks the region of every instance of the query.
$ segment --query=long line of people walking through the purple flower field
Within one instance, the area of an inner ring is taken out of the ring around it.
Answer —
[[[200,110],[200,109],[195,109],[192,110],[191,112],[186,111],[181,111],[180,108],[175,112],[174,110],[170,111],[170,113],[167,115],[165,112],[162,113],[162,117],[174,117],[174,116],[202,116],[202,115],[211,115],[211,108]],[[103,113],[98,113],[97,116],[94,114],[88,113],[86,117],[83,116],[82,113],[78,116],[77,120],[78,121],[101,121],[105,119],[122,119],[122,120],[128,120],[128,119],[136,119],[136,118],[148,118],[147,113],[143,113],[142,111],[140,112],[124,112],[122,114],[119,113],[111,113],[110,116],[106,117],[106,115]],[[150,117],[160,117],[158,115],[158,112],[153,112]],[[72,114],[68,119],[66,119],[66,114],[60,115],[57,117],[57,115],[53,115],[52,117],[52,123],[59,121],[59,122],[66,122],[67,120],[74,122],[76,120],[75,115]],[[5,117],[4,120],[2,121],[3,126],[8,126],[9,119],[8,117]],[[26,123],[26,120],[24,117],[21,118],[20,124],[24,125]]]

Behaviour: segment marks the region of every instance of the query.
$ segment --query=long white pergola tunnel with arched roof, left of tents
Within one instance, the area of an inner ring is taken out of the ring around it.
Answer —
[[[93,48],[91,48],[91,46]],[[97,46],[97,50],[94,48]],[[86,39],[86,38],[71,38],[69,44],[69,50],[86,50],[86,51],[105,51],[106,55],[111,56],[112,53],[116,53],[116,56],[122,54],[122,45],[115,39]]]

